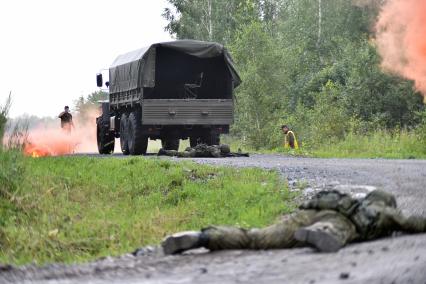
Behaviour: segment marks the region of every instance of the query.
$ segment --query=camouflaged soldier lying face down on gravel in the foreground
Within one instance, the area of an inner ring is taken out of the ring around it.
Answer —
[[[212,226],[201,232],[182,232],[166,237],[161,244],[166,254],[205,247],[224,249],[284,249],[313,246],[335,252],[351,242],[368,241],[393,232],[426,232],[426,218],[405,217],[397,210],[395,197],[375,190],[362,199],[338,191],[319,192],[263,229]]]

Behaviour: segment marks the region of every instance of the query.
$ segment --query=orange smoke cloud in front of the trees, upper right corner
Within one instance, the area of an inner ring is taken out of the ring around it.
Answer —
[[[426,1],[387,1],[376,29],[384,69],[414,80],[426,96]]]

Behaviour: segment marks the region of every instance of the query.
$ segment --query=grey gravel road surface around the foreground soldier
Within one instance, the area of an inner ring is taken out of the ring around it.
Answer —
[[[404,213],[426,216],[426,161],[310,159],[280,155],[194,161],[276,169],[288,180],[291,190],[301,192],[302,198],[327,188],[354,194],[384,189],[397,196]],[[0,267],[0,283],[426,284],[426,234],[352,244],[328,254],[310,248],[196,251],[181,256],[152,253],[135,257],[129,254],[71,266],[3,266]]]

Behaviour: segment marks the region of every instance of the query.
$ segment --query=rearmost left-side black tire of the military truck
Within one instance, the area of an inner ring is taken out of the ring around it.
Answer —
[[[148,136],[142,133],[141,115],[132,111],[127,125],[128,145],[130,155],[144,155],[148,148]]]

